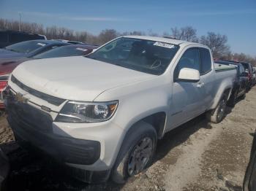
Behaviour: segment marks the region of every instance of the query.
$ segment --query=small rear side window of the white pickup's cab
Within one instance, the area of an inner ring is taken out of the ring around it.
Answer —
[[[211,71],[211,54],[208,49],[200,48],[200,75]]]

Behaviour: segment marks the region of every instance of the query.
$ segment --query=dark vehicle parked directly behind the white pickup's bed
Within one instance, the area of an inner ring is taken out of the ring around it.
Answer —
[[[214,61],[215,63],[225,64],[229,66],[236,66],[236,79],[233,84],[233,90],[230,95],[230,99],[227,102],[228,106],[235,106],[236,99],[239,97],[245,97],[246,87],[248,85],[248,74],[246,73],[244,66],[241,63],[235,61]]]

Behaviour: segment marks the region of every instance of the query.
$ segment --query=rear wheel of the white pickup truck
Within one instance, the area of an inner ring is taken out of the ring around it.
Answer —
[[[213,109],[206,114],[206,117],[208,118],[208,120],[214,123],[221,122],[224,118],[226,105],[227,105],[227,98],[226,98],[226,95],[223,95],[216,109]]]

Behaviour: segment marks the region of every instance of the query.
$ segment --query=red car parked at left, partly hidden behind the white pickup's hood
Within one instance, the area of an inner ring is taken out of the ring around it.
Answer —
[[[33,57],[23,57],[23,58],[2,58],[0,59],[0,94],[7,86],[7,80],[9,74],[24,61],[29,61],[33,59],[42,58],[56,58],[56,57],[67,57],[67,56],[79,56],[88,55],[98,46],[86,45],[86,44],[72,44],[62,47],[56,47],[55,49],[48,50],[47,52],[42,52],[41,54],[35,55]],[[0,98],[0,109],[4,109],[4,102]]]

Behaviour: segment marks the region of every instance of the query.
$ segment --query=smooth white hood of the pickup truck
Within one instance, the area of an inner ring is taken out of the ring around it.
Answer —
[[[75,101],[93,101],[105,90],[155,77],[83,56],[26,61],[12,74],[35,90]]]

